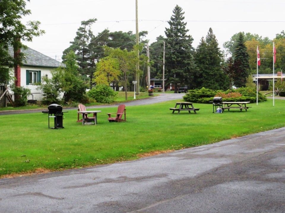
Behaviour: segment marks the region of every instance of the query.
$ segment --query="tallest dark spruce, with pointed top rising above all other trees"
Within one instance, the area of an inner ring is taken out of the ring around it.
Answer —
[[[175,85],[175,93],[177,93],[178,84],[187,84],[193,88],[195,86],[194,75],[196,66],[194,63],[193,38],[186,35],[189,30],[186,29],[187,22],[183,22],[184,12],[178,5],[173,10],[168,24],[169,28],[165,28],[165,78],[168,83]]]

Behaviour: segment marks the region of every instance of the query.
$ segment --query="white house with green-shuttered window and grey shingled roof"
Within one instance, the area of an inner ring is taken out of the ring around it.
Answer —
[[[26,60],[23,60],[22,66],[15,70],[17,85],[31,90],[29,100],[41,100],[42,92],[37,90],[35,84],[41,82],[42,76],[51,77],[51,70],[66,65],[31,48],[22,49],[21,52],[25,54]],[[9,48],[9,54],[14,56],[12,47]]]

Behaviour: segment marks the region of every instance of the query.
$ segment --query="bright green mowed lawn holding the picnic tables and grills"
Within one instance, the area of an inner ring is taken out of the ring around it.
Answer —
[[[132,160],[285,126],[284,100],[221,114],[213,113],[211,104],[197,103],[197,114],[172,114],[175,102],[127,106],[127,121],[120,123],[107,121],[106,113],[116,112],[116,106],[96,108],[102,110],[97,125],[84,126],[76,122],[76,110],[68,110],[63,129],[49,129],[47,114],[1,115],[0,176]]]

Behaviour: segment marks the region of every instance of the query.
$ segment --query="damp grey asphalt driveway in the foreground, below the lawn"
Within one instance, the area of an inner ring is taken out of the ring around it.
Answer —
[[[285,128],[136,161],[0,180],[1,213],[285,212]]]

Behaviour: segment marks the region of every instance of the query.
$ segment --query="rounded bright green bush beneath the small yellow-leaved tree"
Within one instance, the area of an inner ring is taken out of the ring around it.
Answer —
[[[98,103],[111,103],[115,100],[117,93],[108,85],[99,84],[88,91],[87,96]]]

